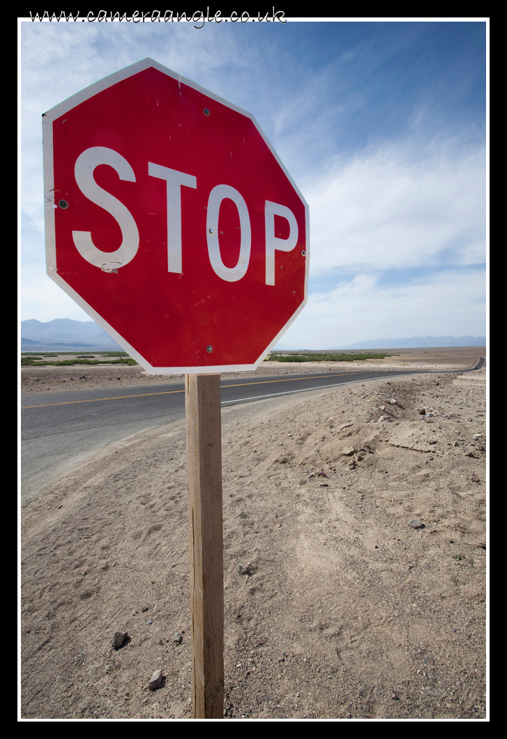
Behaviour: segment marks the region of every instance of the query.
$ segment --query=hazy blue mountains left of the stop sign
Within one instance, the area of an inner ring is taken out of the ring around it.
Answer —
[[[21,351],[109,351],[121,349],[95,321],[21,321]]]

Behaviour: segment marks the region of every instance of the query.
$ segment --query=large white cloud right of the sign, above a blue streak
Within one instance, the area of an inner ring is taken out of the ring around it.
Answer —
[[[314,275],[345,265],[438,266],[451,253],[455,264],[484,262],[483,149],[421,149],[412,140],[336,160],[304,188]]]

